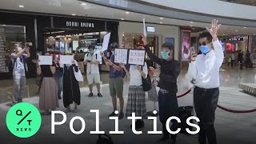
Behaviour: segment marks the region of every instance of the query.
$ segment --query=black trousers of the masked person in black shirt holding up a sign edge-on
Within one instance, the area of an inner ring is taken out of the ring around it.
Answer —
[[[165,136],[169,136],[170,134],[166,130],[166,121],[171,116],[178,117],[178,101],[177,101],[176,94],[162,93],[161,91],[159,91],[158,104],[159,104],[159,118],[160,118],[160,122],[162,122],[162,133]],[[172,122],[172,126],[170,127],[170,130],[176,131],[178,129],[178,122],[176,120],[171,120],[171,122]],[[176,135],[177,134],[175,134],[175,136]]]

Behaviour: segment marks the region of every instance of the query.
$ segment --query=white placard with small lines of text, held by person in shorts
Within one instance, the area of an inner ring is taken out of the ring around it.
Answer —
[[[128,50],[127,49],[115,49],[114,50],[114,62],[127,64]]]

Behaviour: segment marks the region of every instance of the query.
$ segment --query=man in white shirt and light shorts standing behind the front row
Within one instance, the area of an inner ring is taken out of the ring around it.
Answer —
[[[98,97],[102,97],[101,86],[100,86],[100,76],[98,65],[102,61],[100,54],[94,54],[94,46],[90,45],[88,47],[89,53],[85,55],[84,63],[86,65],[87,80],[90,88],[90,94],[88,97],[93,97],[93,84],[96,83],[98,89]]]

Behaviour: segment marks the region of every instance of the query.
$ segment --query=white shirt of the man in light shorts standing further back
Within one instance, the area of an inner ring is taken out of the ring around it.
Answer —
[[[85,55],[85,60],[89,60],[90,62],[102,62],[102,56],[100,54],[97,54],[97,58],[96,58],[96,54],[86,54]],[[87,74],[99,74],[99,68],[98,65],[96,64],[90,64],[90,62],[87,62],[86,64],[86,72]]]

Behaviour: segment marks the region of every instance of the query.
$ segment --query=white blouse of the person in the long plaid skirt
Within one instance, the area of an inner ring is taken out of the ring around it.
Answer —
[[[131,65],[130,66],[130,86],[142,86],[142,74],[138,71],[137,66]],[[148,74],[148,69],[146,62],[142,67],[142,71],[144,74]]]

